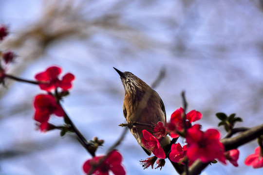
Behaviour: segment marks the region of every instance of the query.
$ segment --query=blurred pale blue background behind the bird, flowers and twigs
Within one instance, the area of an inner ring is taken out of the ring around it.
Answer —
[[[167,116],[182,106],[202,112],[203,129],[217,127],[216,112],[236,113],[252,127],[263,117],[262,0],[0,0],[0,23],[11,34],[0,49],[19,54],[8,73],[34,79],[50,65],[75,74],[63,105],[87,140],[105,140],[105,151],[125,123],[124,88],[113,67],[131,71],[155,88]],[[32,99],[37,86],[7,81],[0,87],[0,175],[82,175],[90,155],[67,134],[36,130]],[[61,123],[61,119],[52,119]],[[225,135],[223,128],[219,128]],[[183,140],[180,140],[183,142]],[[240,147],[239,168],[228,163],[202,175],[262,175],[244,165],[256,141]],[[143,170],[147,158],[128,133],[118,146],[128,175],[176,174],[169,161]]]

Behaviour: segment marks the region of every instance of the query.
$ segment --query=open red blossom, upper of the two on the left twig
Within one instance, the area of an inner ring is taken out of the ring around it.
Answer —
[[[62,80],[58,79],[58,75],[61,73],[61,68],[52,66],[47,70],[38,73],[35,78],[43,83],[39,84],[39,87],[46,91],[51,91],[55,88],[62,88],[68,90],[72,88],[71,82],[75,79],[72,73],[67,73],[62,77]]]

